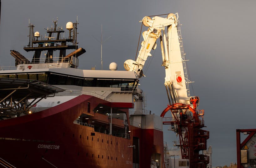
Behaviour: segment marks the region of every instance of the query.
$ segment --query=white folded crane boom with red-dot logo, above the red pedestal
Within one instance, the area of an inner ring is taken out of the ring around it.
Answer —
[[[138,78],[143,76],[143,67],[150,51],[156,48],[156,40],[160,37],[163,66],[165,67],[165,82],[170,104],[188,103],[183,60],[177,30],[178,13],[170,13],[166,18],[155,16],[152,19],[145,16],[141,22],[148,27],[143,32],[143,41],[136,61],[128,59],[124,63],[127,71],[134,71]],[[165,28],[167,27],[167,35]],[[162,37],[163,36],[163,37]]]

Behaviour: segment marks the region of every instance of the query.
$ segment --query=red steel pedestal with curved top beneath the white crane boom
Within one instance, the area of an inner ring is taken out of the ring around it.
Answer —
[[[172,117],[164,117],[169,110]],[[207,149],[209,138],[209,131],[201,129],[204,127],[203,114],[204,110],[194,110],[190,105],[176,103],[168,105],[160,115],[163,124],[171,124],[179,134],[182,159],[189,159],[190,168],[206,168],[209,163],[209,156],[199,154]]]

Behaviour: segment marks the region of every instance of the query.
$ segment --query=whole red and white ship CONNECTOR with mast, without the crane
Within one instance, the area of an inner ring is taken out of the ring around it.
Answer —
[[[78,69],[78,23],[64,38],[57,22],[44,37],[29,23],[33,58],[11,50],[14,69],[0,68],[0,165],[165,167],[163,120],[145,110],[135,72]]]

